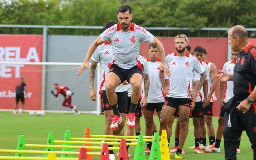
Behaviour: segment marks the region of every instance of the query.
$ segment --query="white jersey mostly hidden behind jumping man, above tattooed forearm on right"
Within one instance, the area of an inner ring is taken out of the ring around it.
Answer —
[[[142,74],[148,74],[148,61],[146,58],[142,57],[141,55],[140,55],[140,63],[143,65]],[[132,85],[128,84],[127,88],[128,88],[128,97],[131,97],[132,96]],[[144,97],[144,79],[142,77],[142,83],[141,83],[141,87],[140,87],[140,99],[142,99],[143,97]]]

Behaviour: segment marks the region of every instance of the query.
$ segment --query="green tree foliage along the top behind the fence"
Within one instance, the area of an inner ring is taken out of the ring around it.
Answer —
[[[256,28],[255,0],[0,0],[0,24],[103,26],[129,4],[133,23],[143,27]],[[193,32],[193,30],[191,30]],[[0,33],[37,33],[35,28],[1,28]],[[51,29],[50,34],[95,35],[101,30]],[[153,31],[170,36],[170,31]],[[205,34],[204,34],[205,35]]]

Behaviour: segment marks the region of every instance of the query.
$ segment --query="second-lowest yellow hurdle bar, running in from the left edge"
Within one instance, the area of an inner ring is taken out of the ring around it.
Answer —
[[[70,151],[41,151],[41,150],[15,150],[15,149],[0,149],[0,153],[35,153],[35,154],[63,154],[63,155],[79,155],[79,152]],[[100,156],[100,152],[86,152],[87,155]]]

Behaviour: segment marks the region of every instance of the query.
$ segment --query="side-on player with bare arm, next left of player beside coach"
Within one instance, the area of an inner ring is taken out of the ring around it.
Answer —
[[[213,143],[215,142],[215,135],[214,135],[214,127],[212,124],[212,116],[213,116],[213,103],[214,103],[214,94],[215,89],[217,87],[217,78],[215,75],[217,74],[217,67],[209,61],[206,61],[207,52],[204,49],[204,56],[202,60],[208,65],[210,70],[210,79],[208,81],[208,96],[207,96],[207,106],[203,108],[203,114],[201,118],[201,150],[209,149],[206,147],[206,128],[204,122],[207,126],[207,133],[209,136],[209,147],[214,146]],[[205,151],[207,152],[207,151]]]

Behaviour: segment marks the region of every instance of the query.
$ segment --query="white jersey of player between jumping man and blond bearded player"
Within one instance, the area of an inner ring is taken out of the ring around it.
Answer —
[[[159,78],[159,69],[161,61],[150,62],[148,60],[148,77],[149,77],[149,90],[148,90],[148,103],[164,102],[165,94],[162,90],[162,84]],[[165,78],[168,79],[169,77]]]

